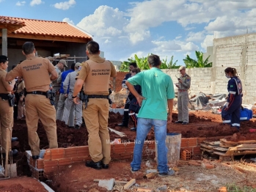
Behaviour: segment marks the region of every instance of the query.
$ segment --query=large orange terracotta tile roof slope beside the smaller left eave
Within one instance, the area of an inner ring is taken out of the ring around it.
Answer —
[[[92,39],[92,37],[83,32],[82,29],[77,29],[76,26],[71,26],[67,22],[59,21],[44,21],[28,18],[11,18],[4,17],[11,21],[25,23],[26,26],[16,30],[15,33],[21,34],[43,34],[60,37],[79,37],[85,39]],[[1,21],[0,21],[1,22]]]

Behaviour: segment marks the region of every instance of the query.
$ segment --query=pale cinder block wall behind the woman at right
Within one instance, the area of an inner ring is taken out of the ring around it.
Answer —
[[[244,104],[256,102],[256,33],[213,40],[213,67],[187,69],[191,76],[191,95],[198,92],[205,94],[227,94],[227,81],[224,69],[235,67],[241,78],[244,89]],[[174,83],[178,80],[178,70],[163,70],[171,76]],[[124,76],[119,73],[117,77]],[[121,80],[122,81],[122,80]],[[121,81],[116,83],[119,85]],[[117,92],[121,86],[117,86]]]

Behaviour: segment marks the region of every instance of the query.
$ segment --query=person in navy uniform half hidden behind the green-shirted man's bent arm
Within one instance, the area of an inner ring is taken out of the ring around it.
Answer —
[[[140,72],[139,68],[131,70],[131,77],[136,75]],[[134,85],[134,89],[136,92],[139,93],[139,95],[142,95],[142,87],[140,85]],[[130,106],[129,106],[129,116],[130,119],[134,122],[134,128],[131,128],[131,131],[137,130],[137,114],[139,113],[139,103],[134,95],[130,92],[128,95],[129,100],[131,100]]]

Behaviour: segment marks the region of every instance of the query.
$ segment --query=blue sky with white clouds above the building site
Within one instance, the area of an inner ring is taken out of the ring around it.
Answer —
[[[154,53],[183,65],[213,38],[256,32],[255,0],[0,0],[0,7],[3,16],[73,23],[115,61]]]

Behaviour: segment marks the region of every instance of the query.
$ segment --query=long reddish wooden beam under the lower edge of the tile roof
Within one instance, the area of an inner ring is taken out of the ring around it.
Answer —
[[[45,34],[22,34],[22,33],[11,33],[8,37],[18,38],[18,39],[29,39],[29,40],[51,40],[51,41],[63,41],[63,42],[76,42],[76,43],[87,43],[90,41],[89,38],[80,37],[61,37],[52,36]]]

